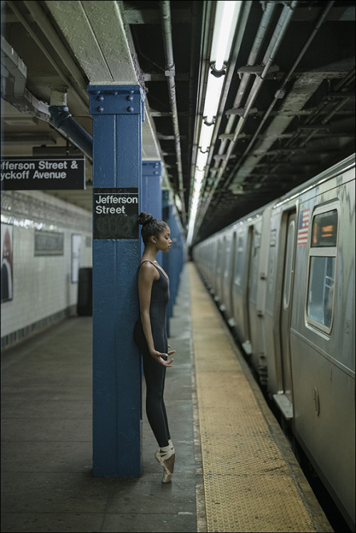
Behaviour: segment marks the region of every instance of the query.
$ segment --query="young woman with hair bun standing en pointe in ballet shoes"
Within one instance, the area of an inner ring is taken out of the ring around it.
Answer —
[[[164,221],[142,212],[138,217],[142,224],[142,240],[145,250],[138,271],[140,318],[135,324],[135,342],[142,352],[143,371],[146,380],[146,413],[157,439],[159,449],[156,460],[163,466],[162,482],[171,480],[174,469],[174,446],[169,434],[167,413],[164,406],[164,379],[167,367],[172,366],[172,354],[167,344],[166,308],[169,300],[169,279],[157,263],[159,250],[168,252],[172,241],[169,226]]]

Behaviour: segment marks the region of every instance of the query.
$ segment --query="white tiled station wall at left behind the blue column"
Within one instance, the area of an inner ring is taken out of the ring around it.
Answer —
[[[40,191],[8,191],[1,193],[1,226],[11,228],[13,248],[12,300],[1,302],[4,348],[75,312],[72,235],[80,235],[76,276],[78,268],[92,266],[92,213]],[[63,255],[35,255],[38,230],[63,234]]]

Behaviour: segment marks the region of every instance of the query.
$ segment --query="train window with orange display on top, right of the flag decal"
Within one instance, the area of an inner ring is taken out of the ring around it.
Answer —
[[[309,251],[307,316],[310,324],[325,333],[330,333],[333,324],[337,226],[337,209],[315,211]]]

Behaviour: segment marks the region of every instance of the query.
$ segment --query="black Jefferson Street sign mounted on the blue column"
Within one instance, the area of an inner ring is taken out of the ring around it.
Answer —
[[[93,190],[93,238],[138,238],[138,187]]]

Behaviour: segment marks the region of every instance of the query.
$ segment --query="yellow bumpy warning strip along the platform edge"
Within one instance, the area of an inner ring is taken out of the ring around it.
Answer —
[[[332,532],[305,502],[192,263],[189,278],[207,531]]]

